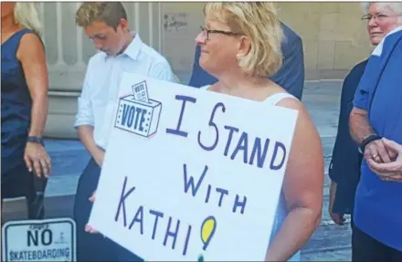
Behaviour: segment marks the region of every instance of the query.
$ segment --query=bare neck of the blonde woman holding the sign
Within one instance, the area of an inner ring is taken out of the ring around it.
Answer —
[[[266,86],[269,81],[267,78],[251,77],[239,69],[222,73],[217,79],[220,88],[225,89],[227,93]]]

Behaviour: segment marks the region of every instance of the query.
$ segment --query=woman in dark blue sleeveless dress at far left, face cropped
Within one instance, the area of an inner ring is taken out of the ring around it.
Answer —
[[[34,202],[28,217],[38,219],[43,209],[36,203],[34,173],[50,173],[42,139],[48,116],[45,49],[34,3],[2,2],[1,9],[1,199],[26,196]]]

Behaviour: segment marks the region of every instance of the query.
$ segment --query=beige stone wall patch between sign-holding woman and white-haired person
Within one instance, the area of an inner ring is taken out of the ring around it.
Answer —
[[[372,50],[360,3],[279,3],[280,18],[300,34],[307,79],[342,79]]]

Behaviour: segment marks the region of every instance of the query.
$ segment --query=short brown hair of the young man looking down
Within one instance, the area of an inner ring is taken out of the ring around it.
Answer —
[[[85,2],[76,13],[76,23],[82,27],[98,21],[116,29],[122,18],[127,20],[122,2]]]

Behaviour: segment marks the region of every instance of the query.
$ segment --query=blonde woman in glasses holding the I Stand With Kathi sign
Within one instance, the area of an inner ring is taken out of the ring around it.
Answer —
[[[199,64],[218,79],[204,89],[299,111],[266,260],[300,260],[299,250],[321,221],[323,150],[302,103],[267,79],[282,59],[276,8],[264,2],[225,2],[209,3],[204,12],[206,24],[196,37]]]

